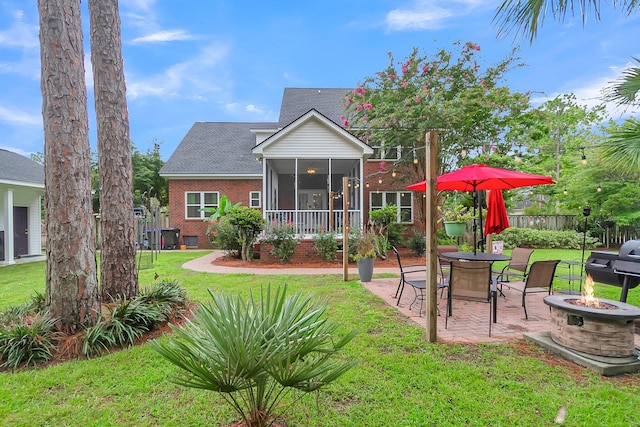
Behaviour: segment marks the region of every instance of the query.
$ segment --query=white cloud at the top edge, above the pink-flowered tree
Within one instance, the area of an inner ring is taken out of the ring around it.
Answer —
[[[408,7],[387,13],[385,26],[391,31],[434,30],[443,27],[450,18],[493,3],[491,0],[414,0]]]

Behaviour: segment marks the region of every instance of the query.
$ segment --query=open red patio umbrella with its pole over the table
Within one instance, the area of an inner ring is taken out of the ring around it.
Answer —
[[[480,208],[481,200],[479,194],[476,194],[477,191],[504,190],[543,184],[554,184],[554,182],[550,176],[534,175],[508,169],[492,168],[487,165],[473,164],[463,166],[453,172],[440,175],[436,180],[436,189],[437,191],[473,191],[474,198],[477,199],[478,208]],[[407,185],[405,188],[408,190],[426,191],[427,182],[418,182],[416,184]],[[479,212],[480,230],[482,230],[482,209],[479,209]],[[475,225],[473,233],[475,236]],[[476,251],[476,245],[474,245],[473,251]]]

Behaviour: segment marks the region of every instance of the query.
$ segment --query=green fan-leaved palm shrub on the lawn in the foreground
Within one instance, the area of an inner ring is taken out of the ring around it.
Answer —
[[[261,288],[248,301],[209,291],[193,320],[150,345],[182,369],[177,384],[222,393],[247,426],[266,426],[289,391],[312,392],[355,365],[333,359],[355,331],[338,340],[326,302],[286,289]]]

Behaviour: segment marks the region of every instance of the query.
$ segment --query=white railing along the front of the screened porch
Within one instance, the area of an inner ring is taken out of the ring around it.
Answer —
[[[296,228],[299,236],[313,236],[329,231],[329,210],[265,210],[267,220],[266,230],[269,232],[275,224],[290,223]],[[351,229],[359,229],[360,211],[349,211],[349,225]],[[333,211],[333,232],[342,234],[344,231],[344,212]]]

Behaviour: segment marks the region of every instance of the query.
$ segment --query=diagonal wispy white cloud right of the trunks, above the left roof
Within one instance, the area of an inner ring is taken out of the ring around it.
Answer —
[[[224,45],[211,45],[188,61],[175,64],[161,74],[148,78],[127,77],[127,94],[130,99],[147,96],[206,99],[205,94],[219,92],[214,71],[228,55]]]

